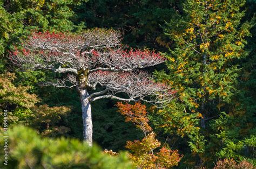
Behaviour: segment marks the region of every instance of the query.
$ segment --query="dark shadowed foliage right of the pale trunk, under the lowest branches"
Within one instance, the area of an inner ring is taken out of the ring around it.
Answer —
[[[107,99],[92,103],[93,140],[104,149],[119,151],[127,140],[142,138],[143,133],[125,122],[115,104]]]

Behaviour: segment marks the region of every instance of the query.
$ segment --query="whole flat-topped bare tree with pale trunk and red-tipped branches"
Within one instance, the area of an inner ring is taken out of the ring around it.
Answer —
[[[91,102],[111,98],[162,103],[173,95],[169,87],[136,70],[158,65],[164,58],[149,50],[123,51],[120,33],[113,30],[87,30],[81,35],[32,33],[24,41],[23,50],[11,52],[9,59],[23,69],[49,69],[66,75],[44,85],[76,87],[82,104],[84,139],[89,145],[92,145]],[[104,89],[89,93],[99,86]],[[118,97],[119,93],[127,97]]]

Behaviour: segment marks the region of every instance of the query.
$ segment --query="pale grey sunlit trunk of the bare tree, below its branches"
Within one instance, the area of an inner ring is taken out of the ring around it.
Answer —
[[[83,125],[84,125],[84,139],[92,146],[92,114],[91,114],[91,102],[89,94],[86,90],[82,90],[80,93],[80,102],[82,104],[83,112]]]

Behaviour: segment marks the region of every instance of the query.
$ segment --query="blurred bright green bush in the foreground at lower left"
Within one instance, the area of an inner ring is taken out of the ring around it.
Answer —
[[[41,138],[25,126],[8,131],[8,167],[10,168],[133,168],[126,153],[103,153],[98,146],[87,146],[77,139]],[[1,139],[1,145],[4,140]],[[1,151],[1,158],[3,158]],[[3,159],[1,159],[3,161]],[[3,163],[1,168],[6,167]]]

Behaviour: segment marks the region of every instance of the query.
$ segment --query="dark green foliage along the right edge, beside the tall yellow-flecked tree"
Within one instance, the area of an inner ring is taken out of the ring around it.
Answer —
[[[256,9],[255,2],[247,2],[246,19],[254,19]],[[217,152],[219,158],[245,159],[252,164],[256,164],[256,55],[255,55],[255,31],[251,29],[252,38],[248,38],[246,50],[250,52],[246,59],[237,61],[242,71],[239,76],[239,83],[236,86],[238,93],[230,105],[230,113],[222,112],[219,119],[213,124],[213,129],[217,129],[217,137],[223,142],[223,147]]]

